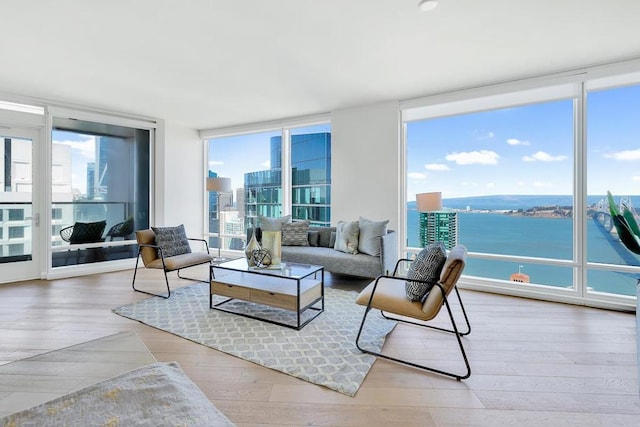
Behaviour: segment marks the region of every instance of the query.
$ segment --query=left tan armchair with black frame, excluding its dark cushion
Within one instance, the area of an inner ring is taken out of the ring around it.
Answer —
[[[183,268],[193,267],[200,264],[211,263],[213,257],[209,255],[209,245],[204,239],[192,239],[186,238],[189,241],[198,241],[204,243],[206,252],[189,252],[179,255],[165,256],[165,250],[156,243],[156,234],[152,229],[136,231],[136,240],[138,241],[138,257],[136,258],[136,268],[133,272],[133,281],[131,286],[134,291],[142,292],[144,294],[158,296],[162,298],[169,298],[171,296],[171,288],[169,287],[169,279],[167,278],[167,272],[176,271],[178,277],[188,280],[200,280],[191,279],[188,277],[180,276],[180,270]],[[138,263],[142,258],[142,263],[146,268],[161,269],[164,272],[164,280],[167,285],[167,295],[155,294],[152,292],[140,290],[136,288],[136,273],[138,272]],[[206,280],[200,280],[205,282]],[[211,268],[209,268],[209,283],[211,283]]]

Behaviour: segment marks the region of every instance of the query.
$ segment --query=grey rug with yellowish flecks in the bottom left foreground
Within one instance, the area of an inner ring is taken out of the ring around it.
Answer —
[[[154,363],[0,418],[20,426],[233,426],[177,363]]]

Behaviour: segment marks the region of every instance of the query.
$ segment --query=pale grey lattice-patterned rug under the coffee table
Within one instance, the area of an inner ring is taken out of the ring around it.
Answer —
[[[354,396],[375,362],[375,356],[364,354],[355,346],[364,314],[364,307],[355,303],[356,296],[356,292],[326,288],[324,313],[300,331],[210,309],[206,283],[177,289],[169,299],[151,297],[118,307],[113,312]],[[222,301],[215,298],[214,303]],[[260,304],[233,301],[225,306],[278,321],[295,322],[295,313]],[[379,312],[371,313],[361,340],[367,348],[380,350],[395,324]]]

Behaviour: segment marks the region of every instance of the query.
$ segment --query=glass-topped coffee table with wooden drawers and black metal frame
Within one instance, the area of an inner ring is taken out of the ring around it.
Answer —
[[[324,311],[324,267],[282,263],[277,268],[249,267],[246,258],[211,266],[209,307],[300,330]],[[225,297],[214,303],[214,295]],[[242,300],[294,312],[295,323],[261,316],[262,310],[234,310]],[[308,315],[307,310],[313,311]],[[303,318],[304,314],[304,318]]]

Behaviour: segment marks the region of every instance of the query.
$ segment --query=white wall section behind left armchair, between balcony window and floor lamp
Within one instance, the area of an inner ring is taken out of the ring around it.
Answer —
[[[198,131],[172,122],[158,127],[156,140],[155,221],[184,224],[189,237],[204,234],[203,147]]]

